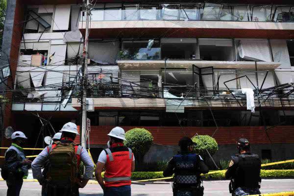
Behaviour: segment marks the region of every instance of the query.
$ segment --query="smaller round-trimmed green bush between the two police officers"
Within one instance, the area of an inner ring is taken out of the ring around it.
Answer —
[[[192,140],[197,144],[196,147],[194,147],[194,151],[200,154],[204,160],[207,160],[208,156],[206,149],[211,156],[219,150],[217,141],[208,135],[199,135],[199,138],[195,136]]]

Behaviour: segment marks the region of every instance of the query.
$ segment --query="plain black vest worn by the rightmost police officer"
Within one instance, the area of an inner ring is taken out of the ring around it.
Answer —
[[[237,187],[257,188],[260,180],[261,162],[257,154],[238,155],[238,166],[235,175]]]

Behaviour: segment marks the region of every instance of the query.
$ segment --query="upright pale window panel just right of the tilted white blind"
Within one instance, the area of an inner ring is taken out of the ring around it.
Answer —
[[[288,51],[286,40],[270,40],[272,57],[274,62],[280,62],[278,68],[290,68],[290,52]]]

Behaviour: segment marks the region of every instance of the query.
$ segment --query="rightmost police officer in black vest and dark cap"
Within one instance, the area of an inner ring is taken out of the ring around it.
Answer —
[[[232,156],[229,168],[225,173],[226,178],[231,178],[230,193],[232,196],[260,194],[261,161],[257,154],[250,152],[250,144],[247,139],[239,139],[237,148],[239,154]]]

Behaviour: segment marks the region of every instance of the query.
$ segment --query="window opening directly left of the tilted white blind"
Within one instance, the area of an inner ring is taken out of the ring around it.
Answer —
[[[231,39],[199,39],[199,53],[205,61],[234,61]]]

